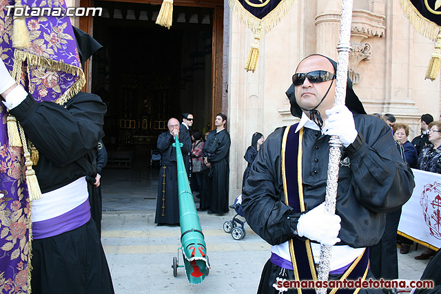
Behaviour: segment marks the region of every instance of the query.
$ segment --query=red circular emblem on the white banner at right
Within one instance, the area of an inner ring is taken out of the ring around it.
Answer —
[[[441,184],[434,182],[424,185],[421,193],[420,205],[424,221],[429,227],[430,234],[441,239]]]

